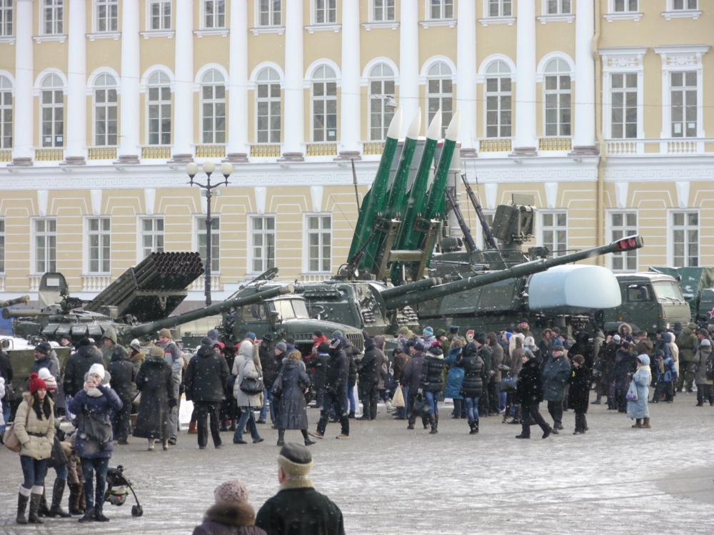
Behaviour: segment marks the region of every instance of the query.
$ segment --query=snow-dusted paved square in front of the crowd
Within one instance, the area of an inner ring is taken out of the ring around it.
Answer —
[[[537,428],[530,440],[514,439],[520,427],[501,417],[482,418],[471,436],[450,409],[433,436],[408,431],[380,407],[376,422],[351,420],[349,441],[334,439],[339,425],[329,424],[326,439],[311,447],[311,475],[342,509],[348,534],[710,534],[714,407],[695,402],[695,394],[679,394],[673,404],[650,404],[652,429],[631,429],[623,414],[594,405],[585,435],[572,434],[574,414],[566,412],[565,430],[545,440]],[[548,419],[545,404],[541,412]],[[318,411],[308,409],[308,418],[314,429]],[[144,516],[131,517],[129,496],[124,506],[105,504],[109,524],[16,526],[20,464],[3,448],[0,533],[191,534],[213,489],[233,477],[246,482],[257,510],[278,487],[277,432],[259,428],[265,442],[236,446],[223,433],[220,450],[199,451],[186,434],[169,452],[147,452],[139,439],[117,446],[110,466],[124,465]],[[53,480],[51,471],[50,489]]]

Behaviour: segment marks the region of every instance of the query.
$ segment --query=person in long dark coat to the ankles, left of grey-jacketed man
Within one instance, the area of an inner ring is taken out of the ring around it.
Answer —
[[[171,366],[164,359],[161,347],[152,347],[149,357],[136,375],[136,389],[141,392],[139,414],[134,426],[134,437],[149,439],[149,451],[159,440],[169,449],[169,410],[176,405]]]

